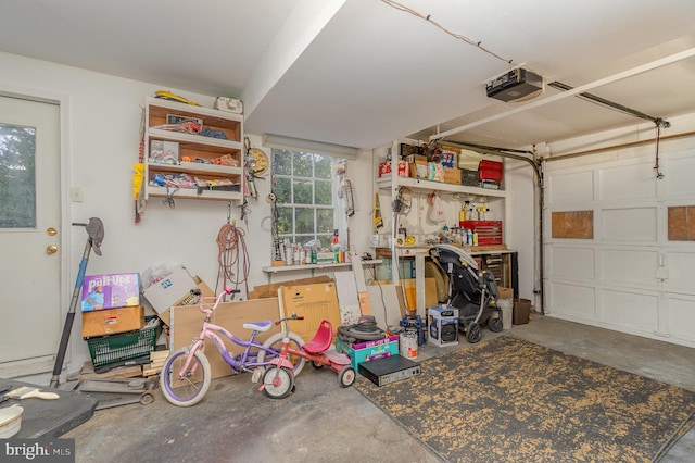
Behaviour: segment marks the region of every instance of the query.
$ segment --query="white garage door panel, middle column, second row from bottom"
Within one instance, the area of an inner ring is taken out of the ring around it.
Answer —
[[[601,254],[601,279],[656,289],[658,262],[656,250],[604,249]]]

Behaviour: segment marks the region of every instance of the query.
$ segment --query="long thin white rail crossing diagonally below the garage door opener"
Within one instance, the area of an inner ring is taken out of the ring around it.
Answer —
[[[561,93],[554,95],[552,97],[543,98],[542,100],[536,100],[536,101],[533,101],[533,102],[517,107],[517,108],[515,108],[513,110],[505,111],[505,112],[500,113],[500,114],[494,114],[494,115],[491,115],[491,116],[488,116],[488,117],[483,117],[483,118],[478,120],[478,121],[473,121],[473,122],[468,123],[468,124],[464,124],[464,125],[458,126],[458,127],[454,127],[452,129],[448,129],[448,130],[442,132],[440,134],[435,134],[435,135],[430,136],[430,140],[437,140],[437,139],[440,139],[440,138],[450,137],[450,136],[452,136],[454,134],[459,134],[459,133],[468,130],[470,128],[488,124],[489,122],[498,121],[498,120],[504,118],[504,117],[509,117],[510,115],[514,115],[514,114],[519,114],[519,113],[521,113],[523,111],[529,111],[529,110],[532,110],[534,108],[540,108],[540,107],[543,107],[545,104],[554,103],[555,101],[559,101],[559,100],[563,100],[565,98],[569,98],[569,97],[573,97],[573,96],[579,95],[579,93],[583,93],[583,92],[589,91],[591,89],[594,89],[596,87],[602,87],[604,85],[612,84],[614,82],[622,80],[622,79],[628,78],[628,77],[633,77],[633,76],[635,76],[637,74],[643,74],[643,73],[646,73],[646,72],[652,71],[652,70],[664,67],[664,66],[667,66],[669,64],[673,64],[675,62],[679,62],[679,61],[682,61],[682,60],[685,60],[685,59],[688,59],[688,58],[692,58],[692,57],[695,57],[695,48],[691,48],[691,49],[681,51],[679,53],[670,54],[670,55],[661,58],[659,60],[655,60],[655,61],[652,61],[649,63],[645,63],[645,64],[632,67],[630,70],[627,70],[627,71],[610,75],[608,77],[604,77],[604,78],[601,78],[598,80],[594,80],[594,82],[591,82],[589,84],[584,84],[584,85],[581,85],[579,87],[574,87],[571,90],[567,90],[567,91],[564,91]]]

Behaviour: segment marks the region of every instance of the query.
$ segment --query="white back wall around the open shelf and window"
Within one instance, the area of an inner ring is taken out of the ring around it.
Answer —
[[[202,96],[185,89],[163,88],[119,77],[68,67],[54,63],[0,53],[0,91],[27,96],[41,96],[65,100],[68,105],[66,130],[68,172],[63,182],[70,187],[84,188],[84,202],[65,202],[67,222],[86,222],[100,217],[104,223],[103,256],[93,253],[87,274],[144,272],[161,264],[184,264],[208,286],[217,283],[216,237],[227,221],[227,203],[220,201],[176,201],[168,209],[157,198],[149,201],[140,224],[134,223],[131,193],[132,163],[138,161],[140,107],[146,97],[166,89],[212,107],[215,96]],[[250,135],[253,147],[261,146],[261,136]],[[266,150],[269,152],[269,150]],[[371,159],[370,153],[348,166],[348,177],[355,185],[355,216],[349,222],[351,245],[356,252],[368,251],[371,233]],[[270,215],[265,201],[270,192],[269,176],[257,182],[258,201],[251,200],[245,241],[251,271],[249,289],[268,281],[261,271],[269,265],[271,240],[266,217]],[[64,193],[66,198],[66,195]],[[239,208],[232,208],[231,217],[239,220]],[[67,249],[63,249],[64,268],[62,306],[66,312],[77,277],[85,247],[84,228],[70,229]],[[286,280],[309,276],[306,271],[273,276]],[[222,283],[220,283],[222,285]],[[62,326],[55,327],[62,330]],[[68,371],[75,371],[89,359],[86,342],[81,341],[81,321],[77,316],[71,336],[72,360]]]

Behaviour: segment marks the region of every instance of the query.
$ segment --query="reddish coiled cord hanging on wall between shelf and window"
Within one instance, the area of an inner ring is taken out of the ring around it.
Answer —
[[[227,283],[229,283],[229,285],[235,286],[235,289],[239,289],[239,285],[243,284],[248,296],[251,264],[244,235],[244,230],[237,226],[237,221],[228,222],[219,229],[217,235],[219,250],[217,254],[219,264],[217,285],[219,285],[220,277],[223,278],[224,287],[227,287]],[[215,293],[217,293],[217,289],[215,287]]]

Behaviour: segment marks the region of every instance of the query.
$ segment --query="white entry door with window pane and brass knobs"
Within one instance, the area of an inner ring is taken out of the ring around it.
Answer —
[[[61,312],[58,104],[0,96],[0,377],[52,371]]]

